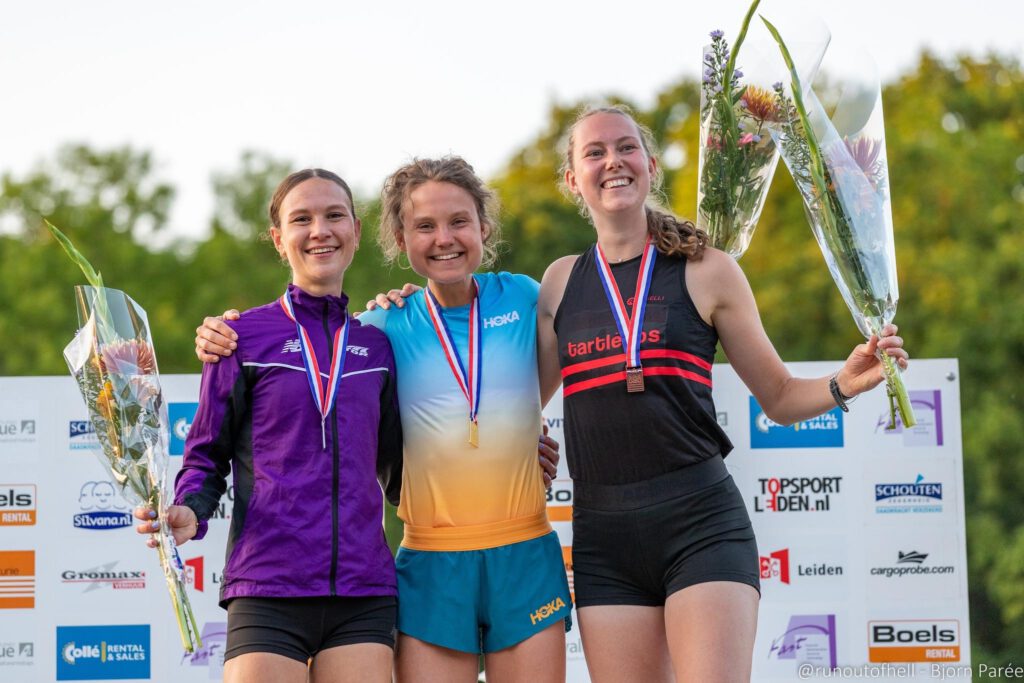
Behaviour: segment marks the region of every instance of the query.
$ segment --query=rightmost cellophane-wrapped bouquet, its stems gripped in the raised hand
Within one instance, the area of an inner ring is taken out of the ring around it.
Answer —
[[[801,85],[778,30],[762,17],[790,69],[792,97],[775,86],[778,120],[769,127],[804,200],[804,211],[836,286],[865,337],[881,336],[896,314],[899,287],[889,197],[882,90],[873,69],[858,68],[831,119],[814,91]],[[889,393],[889,428],[896,415],[916,424],[899,368],[881,353]]]

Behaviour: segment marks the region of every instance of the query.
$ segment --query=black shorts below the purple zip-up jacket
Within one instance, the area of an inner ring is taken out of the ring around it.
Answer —
[[[224,659],[269,652],[306,663],[340,645],[393,648],[397,605],[394,596],[234,598],[227,603]]]

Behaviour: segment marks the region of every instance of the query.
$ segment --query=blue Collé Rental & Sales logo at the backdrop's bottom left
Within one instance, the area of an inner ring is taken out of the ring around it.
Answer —
[[[150,678],[150,625],[58,626],[57,680]]]

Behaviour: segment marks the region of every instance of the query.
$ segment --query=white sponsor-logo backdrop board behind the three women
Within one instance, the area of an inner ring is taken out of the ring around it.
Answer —
[[[790,367],[820,376],[838,365]],[[970,680],[957,375],[955,360],[914,360],[905,379],[920,424],[887,433],[881,389],[849,414],[784,428],[730,367],[715,367],[719,422],[735,445],[726,464],[761,555],[754,680],[827,680],[825,670],[865,666],[874,669],[846,678],[895,681],[908,667],[926,677],[941,666],[945,680]],[[162,379],[173,476],[199,377]],[[545,418],[563,441],[558,397]],[[219,679],[230,505],[206,540],[181,549],[205,641],[184,655],[156,554],[131,529],[92,444],[70,378],[0,378],[0,681]],[[570,571],[571,503],[563,457],[549,509]],[[578,631],[566,650],[569,680],[588,680]]]

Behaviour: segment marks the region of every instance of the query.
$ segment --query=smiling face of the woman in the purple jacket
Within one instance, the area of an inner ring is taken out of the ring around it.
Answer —
[[[312,177],[285,196],[273,246],[292,268],[292,284],[314,296],[341,294],[361,225],[348,195],[333,180]]]

